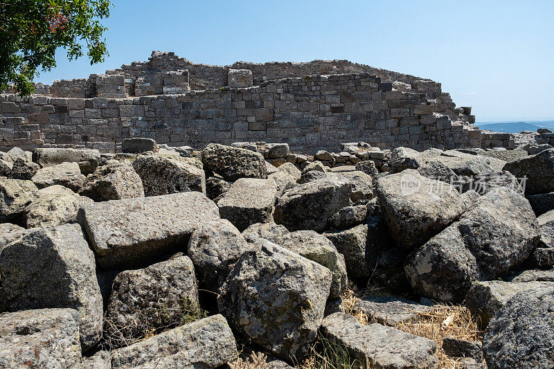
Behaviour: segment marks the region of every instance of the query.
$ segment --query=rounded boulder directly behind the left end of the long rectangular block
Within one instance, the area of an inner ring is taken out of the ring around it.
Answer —
[[[144,197],[144,188],[129,160],[111,160],[89,174],[79,193],[94,201],[108,201]]]

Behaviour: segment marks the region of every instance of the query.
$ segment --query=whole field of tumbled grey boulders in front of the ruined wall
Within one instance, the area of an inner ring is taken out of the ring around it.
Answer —
[[[121,148],[0,153],[0,368],[554,368],[551,145]]]

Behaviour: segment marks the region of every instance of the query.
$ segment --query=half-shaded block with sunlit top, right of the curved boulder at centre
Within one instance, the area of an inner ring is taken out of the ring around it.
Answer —
[[[366,251],[368,249],[368,226],[360,224],[343,231],[323,233],[339,253],[344,255],[346,271],[353,279],[368,278],[370,271],[367,268]]]

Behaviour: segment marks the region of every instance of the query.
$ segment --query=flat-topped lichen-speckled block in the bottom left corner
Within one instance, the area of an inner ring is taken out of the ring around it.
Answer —
[[[75,368],[78,313],[36,309],[0,314],[0,368]]]

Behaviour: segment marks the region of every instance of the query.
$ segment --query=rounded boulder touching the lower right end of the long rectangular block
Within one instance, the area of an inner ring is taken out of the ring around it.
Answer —
[[[188,255],[195,264],[200,281],[212,291],[217,291],[240,255],[249,249],[251,246],[227,219],[201,224],[188,241]]]

